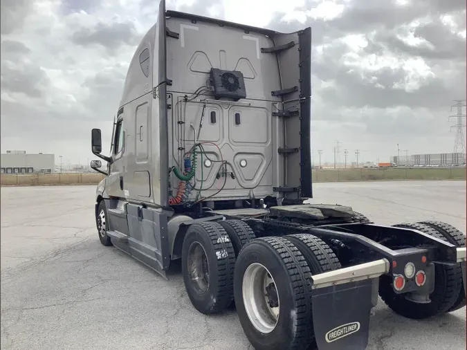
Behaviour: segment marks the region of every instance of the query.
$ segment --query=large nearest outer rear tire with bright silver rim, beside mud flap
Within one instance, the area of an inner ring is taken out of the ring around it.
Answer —
[[[235,264],[235,304],[241,327],[256,350],[306,349],[313,342],[310,277],[300,250],[282,237],[258,238],[241,250]],[[255,313],[252,305],[262,313]],[[275,315],[279,310],[280,316]]]

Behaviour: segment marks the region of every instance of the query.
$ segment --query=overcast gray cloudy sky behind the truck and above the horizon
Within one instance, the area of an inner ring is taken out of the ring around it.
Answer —
[[[109,144],[129,61],[156,0],[1,0],[1,151],[81,164]],[[451,152],[466,98],[466,0],[167,0],[167,8],[291,32],[311,26],[312,147],[387,160]],[[454,111],[452,111],[454,113]],[[107,147],[104,150],[107,151]],[[401,153],[402,155],[402,153]]]

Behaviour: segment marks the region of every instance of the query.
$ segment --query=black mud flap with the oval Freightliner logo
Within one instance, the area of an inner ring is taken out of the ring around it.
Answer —
[[[319,350],[364,350],[369,335],[372,279],[313,291],[313,328]]]

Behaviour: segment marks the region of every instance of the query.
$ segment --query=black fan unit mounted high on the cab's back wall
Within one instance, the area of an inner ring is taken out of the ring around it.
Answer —
[[[210,81],[214,86],[214,98],[246,98],[244,75],[239,71],[223,71],[211,68]]]

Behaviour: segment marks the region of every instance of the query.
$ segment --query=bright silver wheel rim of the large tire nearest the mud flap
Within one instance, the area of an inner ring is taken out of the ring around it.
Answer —
[[[275,289],[275,281],[268,269],[254,263],[246,269],[241,286],[246,314],[255,329],[265,334],[271,333],[279,320],[279,293],[275,290],[277,306],[271,307],[271,293],[266,291],[266,287],[271,288],[271,284]]]

